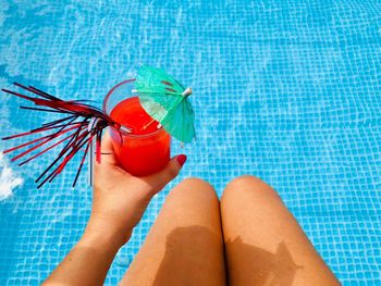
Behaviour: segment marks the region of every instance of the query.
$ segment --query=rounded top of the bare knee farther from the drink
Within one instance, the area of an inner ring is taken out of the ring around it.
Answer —
[[[223,203],[230,197],[250,198],[279,198],[278,192],[262,179],[251,175],[243,175],[232,179],[225,187],[221,202]]]

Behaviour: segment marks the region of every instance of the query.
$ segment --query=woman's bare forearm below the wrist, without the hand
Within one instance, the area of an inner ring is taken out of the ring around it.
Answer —
[[[85,232],[44,285],[103,285],[119,248],[107,234]]]

